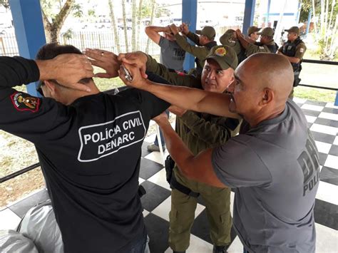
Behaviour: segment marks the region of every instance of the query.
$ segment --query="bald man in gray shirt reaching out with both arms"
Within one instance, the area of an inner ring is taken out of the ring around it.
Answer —
[[[125,63],[133,58],[121,57]],[[120,76],[126,84],[173,105],[244,119],[239,135],[198,155],[178,138],[165,115],[155,121],[185,177],[234,188],[233,224],[245,252],[315,252],[319,155],[302,110],[287,100],[293,83],[287,59],[272,53],[250,56],[236,69],[227,94],[152,83],[141,78],[140,66],[128,68],[134,79]]]

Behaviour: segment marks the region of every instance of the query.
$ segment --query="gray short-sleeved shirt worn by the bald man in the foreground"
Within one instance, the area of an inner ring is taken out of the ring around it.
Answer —
[[[212,153],[217,177],[235,188],[242,243],[250,252],[315,252],[319,156],[302,110],[289,100],[277,118],[244,128]]]

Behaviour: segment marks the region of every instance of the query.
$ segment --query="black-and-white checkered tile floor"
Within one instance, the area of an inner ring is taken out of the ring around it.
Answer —
[[[319,150],[321,182],[314,208],[317,227],[317,252],[338,252],[338,106],[332,103],[314,102],[295,98],[295,102],[306,115],[309,128]],[[142,148],[140,185],[147,194],[142,197],[143,215],[150,237],[152,253],[171,252],[168,248],[168,212],[170,210],[170,187],[165,180],[160,153],[149,153],[146,146],[155,136],[145,138]],[[232,192],[232,202],[233,202]],[[46,190],[34,192],[24,200],[18,201],[0,211],[0,229],[15,229],[21,217],[36,205],[48,198]],[[231,206],[232,209],[232,206]],[[200,201],[195,212],[190,247],[187,252],[212,252],[208,234],[205,206]],[[228,252],[242,253],[242,244],[233,236]]]

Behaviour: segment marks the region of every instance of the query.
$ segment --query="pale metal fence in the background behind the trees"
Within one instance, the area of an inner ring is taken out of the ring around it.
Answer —
[[[131,31],[127,31],[128,36],[128,51],[131,51]],[[123,31],[118,31],[118,38],[121,47],[121,53],[126,52],[126,39]],[[81,51],[86,48],[100,48],[114,53],[119,53],[116,48],[116,43],[114,40],[113,33],[109,30],[107,31],[77,31],[71,33],[71,38],[61,34],[58,38],[58,41],[61,44],[70,44],[76,46]],[[139,47],[137,50],[145,51],[148,36],[145,34],[140,35],[139,38]],[[160,54],[160,47],[150,41],[149,51],[150,55]],[[18,56],[19,48],[16,43],[15,33],[5,33],[0,34],[0,56]]]

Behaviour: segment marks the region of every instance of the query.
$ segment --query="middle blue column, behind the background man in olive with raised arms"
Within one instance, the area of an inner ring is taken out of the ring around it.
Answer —
[[[182,21],[190,24],[190,31],[196,31],[197,0],[182,0]],[[195,68],[195,58],[190,53],[185,54],[183,68],[185,71]]]

